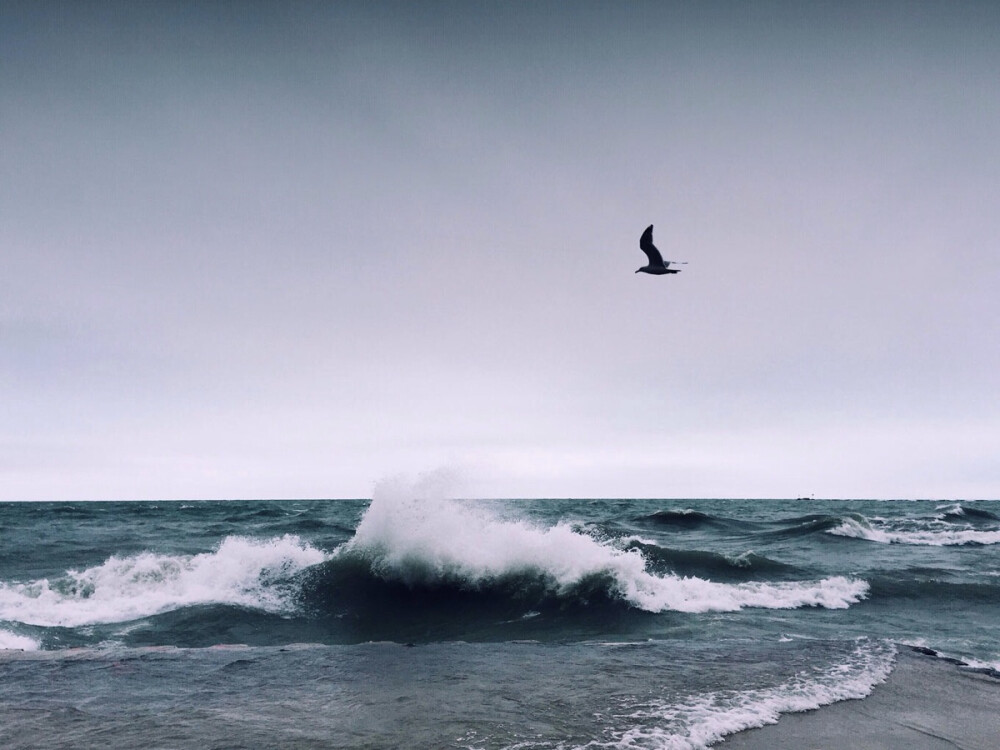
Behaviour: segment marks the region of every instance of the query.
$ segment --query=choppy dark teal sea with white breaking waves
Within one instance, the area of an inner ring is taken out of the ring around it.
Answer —
[[[0,747],[649,748],[1000,676],[1000,501],[0,504]]]

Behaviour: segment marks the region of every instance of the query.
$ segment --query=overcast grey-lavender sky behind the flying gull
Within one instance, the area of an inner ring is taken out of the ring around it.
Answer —
[[[998,39],[4,2],[0,499],[1000,497]]]

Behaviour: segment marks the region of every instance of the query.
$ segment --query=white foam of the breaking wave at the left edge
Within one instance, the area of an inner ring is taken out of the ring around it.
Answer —
[[[58,578],[0,583],[0,620],[46,627],[128,622],[195,604],[235,604],[283,613],[276,585],[326,554],[296,536],[227,537],[214,552],[111,557]]]

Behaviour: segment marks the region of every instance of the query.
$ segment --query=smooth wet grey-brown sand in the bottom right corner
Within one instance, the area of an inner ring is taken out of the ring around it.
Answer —
[[[727,738],[722,750],[997,750],[1000,679],[900,647],[864,700],[786,714]]]

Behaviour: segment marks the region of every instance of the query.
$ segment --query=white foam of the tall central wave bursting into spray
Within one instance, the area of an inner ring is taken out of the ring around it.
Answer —
[[[377,488],[357,532],[338,554],[363,556],[376,573],[409,583],[479,586],[530,573],[544,575],[565,591],[589,576],[607,575],[625,600],[650,612],[844,608],[868,592],[864,581],[840,576],[725,584],[655,575],[647,571],[639,550],[599,541],[570,523],[541,528],[441,497],[418,499],[398,483]]]

